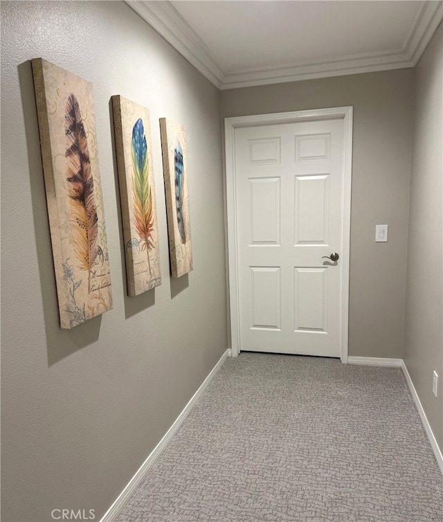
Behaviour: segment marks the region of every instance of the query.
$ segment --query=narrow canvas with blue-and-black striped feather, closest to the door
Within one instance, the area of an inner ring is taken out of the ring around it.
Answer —
[[[171,275],[179,278],[192,271],[185,127],[167,118],[160,118],[160,133]]]

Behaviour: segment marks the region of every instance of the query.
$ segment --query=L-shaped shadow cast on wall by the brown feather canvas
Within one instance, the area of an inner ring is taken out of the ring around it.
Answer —
[[[40,150],[39,127],[37,123],[37,107],[31,62],[28,60],[17,67],[21,102],[28,150],[28,165],[30,176],[30,191],[33,204],[35,244],[39,264],[40,286],[44,325],[46,332],[46,347],[48,350],[48,366],[61,361],[77,350],[98,340],[100,334],[101,316],[83,323],[73,330],[62,330],[58,313],[57,287],[49,233],[48,209]]]

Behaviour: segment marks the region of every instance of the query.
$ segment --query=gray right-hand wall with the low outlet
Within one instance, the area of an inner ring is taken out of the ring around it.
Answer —
[[[416,70],[404,360],[443,451],[442,64],[440,26]]]

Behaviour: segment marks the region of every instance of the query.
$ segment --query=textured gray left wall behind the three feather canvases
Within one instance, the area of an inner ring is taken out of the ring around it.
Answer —
[[[2,521],[116,499],[221,355],[219,92],[122,2],[1,3]],[[114,309],[60,330],[29,60],[93,83]],[[151,112],[163,284],[126,295],[109,100]],[[159,118],[188,143],[194,271],[170,280]]]

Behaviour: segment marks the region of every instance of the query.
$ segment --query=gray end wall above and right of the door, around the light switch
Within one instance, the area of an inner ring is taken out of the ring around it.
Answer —
[[[221,116],[354,106],[349,354],[403,357],[413,69],[221,91]],[[389,241],[375,243],[375,225]]]

